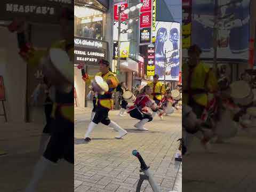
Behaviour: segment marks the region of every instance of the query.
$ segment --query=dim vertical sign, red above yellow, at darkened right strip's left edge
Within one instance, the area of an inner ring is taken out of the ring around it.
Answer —
[[[182,0],[182,49],[191,45],[191,0]]]

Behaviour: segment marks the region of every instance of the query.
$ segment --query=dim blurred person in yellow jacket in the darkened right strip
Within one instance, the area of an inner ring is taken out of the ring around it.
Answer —
[[[191,107],[198,119],[208,103],[208,94],[218,91],[217,77],[214,71],[200,60],[202,51],[197,45],[188,49],[188,61],[182,65],[182,103]],[[193,140],[188,134],[185,142],[188,150]]]

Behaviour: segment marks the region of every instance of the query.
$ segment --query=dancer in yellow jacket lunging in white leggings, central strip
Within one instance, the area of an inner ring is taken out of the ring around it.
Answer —
[[[116,139],[121,139],[127,134],[127,131],[122,129],[114,121],[111,121],[108,118],[109,110],[113,109],[113,107],[114,107],[113,106],[114,101],[112,99],[112,94],[119,83],[118,79],[114,73],[109,71],[109,62],[107,60],[101,59],[99,61],[99,69],[100,69],[100,73],[97,73],[95,76],[101,76],[103,78],[103,80],[105,82],[107,82],[107,84],[109,86],[109,90],[108,90],[108,92],[105,92],[102,95],[98,93],[98,100],[96,103],[97,107],[95,110],[95,115],[94,115],[91,123],[88,126],[87,132],[84,135],[84,140],[86,142],[91,141],[90,133],[93,131],[94,127],[96,125],[98,125],[99,123],[110,126],[114,130],[118,131],[119,135],[115,137]],[[94,78],[93,76],[89,76],[87,74],[85,74],[83,76],[83,80],[86,83],[90,83],[93,78]]]

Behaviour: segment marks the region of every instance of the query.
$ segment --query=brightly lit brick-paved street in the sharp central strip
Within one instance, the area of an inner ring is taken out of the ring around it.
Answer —
[[[75,191],[131,192],[136,191],[140,163],[132,150],[140,152],[150,166],[154,178],[163,192],[181,191],[181,164],[174,161],[181,137],[181,112],[161,121],[146,124],[148,132],[133,127],[138,122],[130,116],[120,117],[110,111],[110,119],[123,127],[128,134],[115,139],[117,132],[99,124],[93,130],[92,141],[83,139],[89,125],[91,109],[76,108],[75,118]],[[153,191],[147,181],[141,191]]]

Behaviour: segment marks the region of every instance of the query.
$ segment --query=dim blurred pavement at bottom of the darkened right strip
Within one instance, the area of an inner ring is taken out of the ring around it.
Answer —
[[[183,156],[183,191],[255,192],[256,127],[223,143],[211,145],[205,153],[194,139],[190,154]]]

